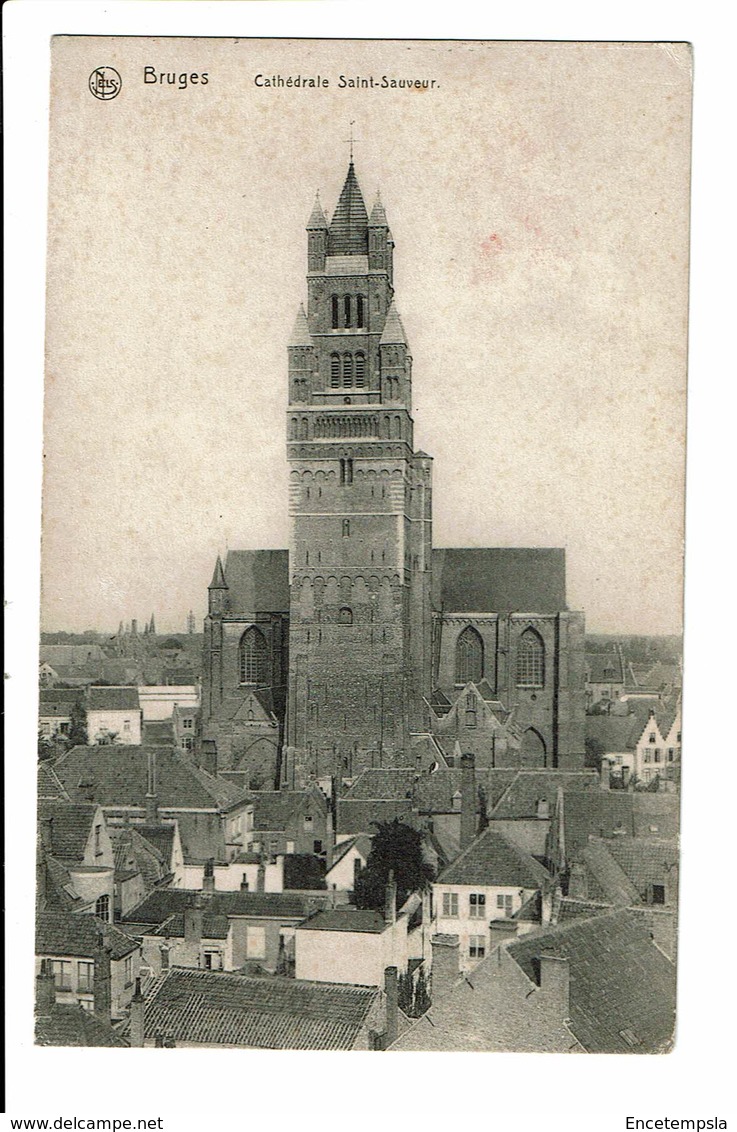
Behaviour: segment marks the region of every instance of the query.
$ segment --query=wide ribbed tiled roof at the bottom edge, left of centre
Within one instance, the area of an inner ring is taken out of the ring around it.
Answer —
[[[174,968],[151,988],[145,1034],[257,1049],[351,1049],[376,987]]]

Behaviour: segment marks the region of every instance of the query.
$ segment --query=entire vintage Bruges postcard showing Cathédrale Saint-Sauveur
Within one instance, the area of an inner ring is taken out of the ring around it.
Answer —
[[[672,1048],[691,91],[53,40],[38,1045]]]

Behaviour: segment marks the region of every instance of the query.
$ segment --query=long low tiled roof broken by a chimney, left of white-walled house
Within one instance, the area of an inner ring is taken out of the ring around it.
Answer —
[[[194,906],[202,893],[188,889],[156,889],[123,916],[123,924],[163,924],[174,912]],[[286,892],[214,892],[204,898],[212,916],[254,916],[269,919],[305,919],[322,898]]]

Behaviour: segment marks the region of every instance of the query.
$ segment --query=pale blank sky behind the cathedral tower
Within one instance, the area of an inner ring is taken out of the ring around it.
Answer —
[[[112,101],[86,85],[103,58]],[[590,631],[679,632],[687,49],[91,37],[52,61],[44,629],[153,610],[181,632],[218,552],[288,544],[305,224],[353,122],[396,242],[435,544],[565,547]],[[274,74],[329,86],[256,85]]]

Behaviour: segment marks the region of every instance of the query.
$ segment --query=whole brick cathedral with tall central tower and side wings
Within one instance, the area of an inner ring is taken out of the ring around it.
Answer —
[[[289,549],[230,550],[208,589],[199,751],[255,788],[366,767],[577,770],[584,616],[565,551],[432,546],[394,240],[353,162],[307,224],[288,346]]]

